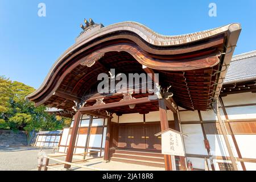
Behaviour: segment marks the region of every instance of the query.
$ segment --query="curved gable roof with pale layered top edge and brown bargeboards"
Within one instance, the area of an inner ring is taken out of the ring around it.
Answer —
[[[154,69],[159,73],[171,74],[172,76],[183,75],[181,77],[185,81],[183,80],[184,85],[181,86],[185,86],[188,90],[188,97],[191,102],[192,96],[191,92],[189,92],[189,82],[186,81],[189,79],[185,75],[192,76],[195,74],[195,77],[200,74],[203,74],[203,76],[209,74],[209,76],[212,76],[216,73],[214,80],[211,77],[209,82],[212,85],[213,81],[215,85],[205,90],[213,90],[214,92],[209,93],[217,96],[218,89],[216,90],[216,88],[221,88],[222,85],[222,80],[219,78],[225,77],[226,67],[228,67],[232,58],[234,47],[236,47],[241,31],[238,23],[177,36],[160,35],[143,24],[136,22],[116,23],[107,27],[92,22],[91,24],[87,23],[85,27],[81,27],[84,31],[76,39],[76,43],[56,60],[40,88],[27,96],[37,106],[42,104],[48,106],[57,105],[57,107],[63,106],[61,109],[71,107],[71,102],[65,102],[69,104],[55,105],[49,99],[58,89],[65,85],[64,82],[67,81],[68,75],[74,69],[79,68],[81,64],[92,67],[98,60],[106,59],[106,55],[109,52],[126,52],[137,60],[139,64]],[[122,56],[127,57],[128,55],[123,54]],[[226,65],[226,67],[224,68],[222,65]],[[81,76],[81,79],[86,82],[89,77],[85,75]],[[74,83],[77,86],[80,84],[81,79],[79,74],[75,74],[75,76],[79,80],[76,84]],[[175,85],[174,80],[168,81]],[[177,81],[180,83],[179,80]],[[67,91],[68,89],[63,90]],[[86,92],[86,90],[83,90],[83,92]],[[78,93],[73,90],[72,92],[67,92],[67,94],[81,98],[84,93]],[[207,105],[204,108],[207,109],[209,103],[205,103]],[[185,103],[183,104],[185,105]],[[186,105],[189,104],[190,101]],[[193,103],[188,108],[192,110],[200,109],[195,107]]]

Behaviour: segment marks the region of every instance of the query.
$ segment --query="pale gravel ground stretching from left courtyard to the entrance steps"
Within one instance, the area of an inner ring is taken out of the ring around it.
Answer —
[[[37,156],[40,150],[41,150],[40,148],[34,148],[34,147],[9,147],[9,148],[0,147],[0,171],[35,171],[37,170],[38,169]],[[53,148],[51,149],[43,148],[42,151],[46,152],[46,154],[52,154]],[[79,156],[74,156],[74,160],[81,160],[80,158],[81,157]],[[64,157],[59,157],[56,159],[65,160]],[[53,160],[50,160],[49,163],[53,164],[56,162]],[[112,170],[129,171],[130,169],[139,170],[139,171],[164,170],[164,168],[140,166],[136,164],[127,164],[127,163],[119,163],[119,162],[104,163],[102,158],[90,159],[86,163],[81,162],[77,164],[98,168],[98,169],[110,170],[110,171]],[[63,164],[59,166],[54,166],[54,167],[60,170],[64,170]],[[48,170],[52,171],[52,169],[50,168]],[[74,166],[71,168],[71,170],[88,171],[91,169],[85,169],[85,168]]]

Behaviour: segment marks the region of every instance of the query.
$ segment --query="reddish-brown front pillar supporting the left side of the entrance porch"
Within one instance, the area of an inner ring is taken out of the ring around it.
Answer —
[[[69,146],[68,146],[67,157],[65,160],[66,162],[69,162],[69,163],[72,162],[72,158],[73,158],[73,152],[74,152],[75,143],[76,143],[77,131],[79,129],[80,117],[81,117],[81,113],[80,113],[80,111],[77,111],[77,113],[75,114],[75,119],[74,119],[72,131],[71,131],[71,138],[70,138]],[[71,166],[69,164],[65,164],[64,167],[70,168]]]

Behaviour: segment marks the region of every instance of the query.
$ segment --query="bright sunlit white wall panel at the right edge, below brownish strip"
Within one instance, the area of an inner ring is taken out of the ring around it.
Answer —
[[[242,158],[256,159],[256,135],[235,135],[235,138]]]

